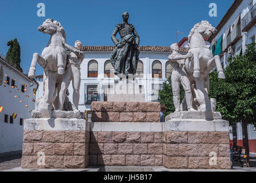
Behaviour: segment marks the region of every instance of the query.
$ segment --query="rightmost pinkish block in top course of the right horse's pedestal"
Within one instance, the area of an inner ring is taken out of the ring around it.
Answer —
[[[229,144],[229,132],[209,132],[211,144]]]

